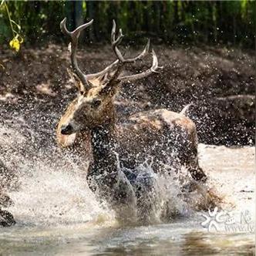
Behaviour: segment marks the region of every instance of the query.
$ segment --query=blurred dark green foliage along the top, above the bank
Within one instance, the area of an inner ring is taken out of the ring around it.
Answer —
[[[89,19],[88,42],[109,41],[112,19],[131,42],[255,46],[255,1],[24,1],[7,2],[12,20],[22,25],[27,45],[61,42],[59,22],[69,29]],[[0,9],[0,43],[12,39],[5,8]],[[142,40],[143,39],[143,40]],[[141,41],[142,40],[142,41]]]

